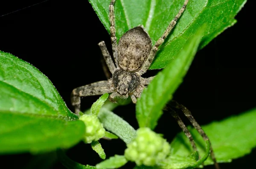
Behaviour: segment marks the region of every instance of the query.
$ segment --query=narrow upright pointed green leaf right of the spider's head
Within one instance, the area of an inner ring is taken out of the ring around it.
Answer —
[[[180,51],[175,60],[159,72],[143,90],[136,105],[136,117],[140,127],[154,129],[162,115],[162,109],[172,99],[172,94],[183,80],[195,56],[204,28],[201,28]]]

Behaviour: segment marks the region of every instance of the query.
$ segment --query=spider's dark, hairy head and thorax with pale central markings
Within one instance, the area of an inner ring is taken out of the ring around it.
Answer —
[[[112,77],[113,85],[119,95],[128,97],[128,94],[134,92],[140,85],[140,75],[136,72],[118,69],[113,73]]]

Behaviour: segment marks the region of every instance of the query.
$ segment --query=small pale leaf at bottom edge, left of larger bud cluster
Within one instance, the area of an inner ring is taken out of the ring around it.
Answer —
[[[116,169],[127,163],[125,156],[115,155],[107,160],[102,161],[96,165],[97,169]]]

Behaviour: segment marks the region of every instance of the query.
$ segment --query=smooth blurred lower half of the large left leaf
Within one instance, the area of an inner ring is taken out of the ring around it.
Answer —
[[[58,116],[0,112],[0,154],[49,152],[69,148],[82,139],[84,123]]]

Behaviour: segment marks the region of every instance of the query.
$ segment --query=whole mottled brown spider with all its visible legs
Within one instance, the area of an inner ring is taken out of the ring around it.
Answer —
[[[106,61],[108,69],[110,70],[112,77],[109,80],[99,81],[96,83],[91,83],[85,86],[73,89],[71,94],[71,102],[75,107],[75,113],[80,112],[81,98],[84,96],[91,95],[102,95],[105,93],[111,93],[109,100],[113,101],[115,97],[127,98],[131,97],[133,103],[137,102],[137,97],[140,97],[143,89],[154,77],[143,78],[144,74],[149,66],[151,65],[158,47],[164,42],[166,37],[174,28],[177,20],[180,18],[181,14],[186,8],[189,0],[185,0],[182,8],[177,13],[175,18],[169,23],[163,35],[157,40],[154,46],[152,46],[151,38],[145,31],[143,26],[137,26],[133,29],[128,30],[119,40],[117,45],[116,42],[116,28],[115,28],[115,16],[114,16],[114,3],[116,0],[111,0],[109,5],[109,19],[110,19],[110,33],[111,33],[111,43],[113,50],[113,62],[111,55],[104,41],[101,41],[98,45],[102,51],[102,55]],[[180,117],[174,111],[174,109],[181,109],[183,113],[189,118],[192,125],[198,132],[202,135],[204,140],[209,140],[207,135],[204,133],[203,129],[195,121],[186,107],[173,101],[175,105],[167,105],[165,110],[172,113],[175,117],[179,126],[183,129],[183,132],[189,138],[189,141],[194,150],[196,150],[195,141],[192,138],[191,133],[186,128]],[[171,108],[171,107],[172,108]],[[218,169],[218,163],[215,160],[214,153],[211,147],[211,157],[215,163],[215,168]]]

